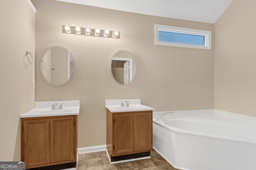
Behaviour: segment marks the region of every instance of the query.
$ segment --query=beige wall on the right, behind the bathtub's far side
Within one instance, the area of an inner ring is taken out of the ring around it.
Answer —
[[[233,0],[214,25],[215,109],[256,116],[255,6]]]

